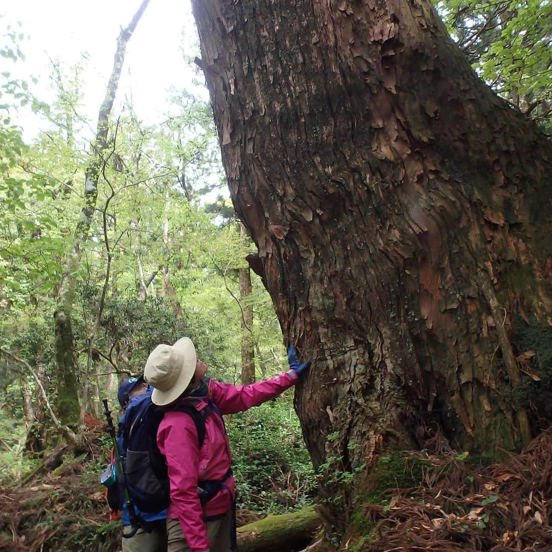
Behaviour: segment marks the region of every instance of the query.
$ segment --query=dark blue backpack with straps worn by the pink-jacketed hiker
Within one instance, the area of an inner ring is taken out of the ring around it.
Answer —
[[[167,464],[157,447],[157,429],[167,411],[186,412],[192,417],[198,432],[199,448],[205,440],[205,420],[211,412],[221,416],[212,401],[199,412],[192,405],[182,403],[160,407],[153,404],[151,397],[147,397],[134,415],[125,419],[121,451],[121,454],[124,452],[125,484],[132,502],[143,512],[159,512],[167,508],[171,500]],[[215,496],[222,481],[199,482],[202,503]]]

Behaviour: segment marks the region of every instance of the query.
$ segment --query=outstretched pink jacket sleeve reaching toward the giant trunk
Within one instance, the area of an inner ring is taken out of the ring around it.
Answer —
[[[274,376],[274,378],[251,385],[236,386],[211,380],[209,386],[220,412],[234,414],[252,406],[262,405],[263,402],[277,397],[297,382],[297,374],[293,370],[289,370],[279,376]]]

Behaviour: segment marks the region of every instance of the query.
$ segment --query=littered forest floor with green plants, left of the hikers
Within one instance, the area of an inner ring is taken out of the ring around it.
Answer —
[[[0,487],[0,550],[120,550],[121,521],[109,520],[104,487],[99,483],[105,467],[100,461],[105,456],[103,424],[89,424],[85,435],[86,454],[23,484]],[[240,525],[260,518],[248,511],[237,515]]]

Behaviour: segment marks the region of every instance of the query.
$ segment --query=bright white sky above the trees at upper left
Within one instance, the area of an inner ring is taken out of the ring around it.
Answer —
[[[140,0],[0,0],[0,34],[8,24],[15,26],[20,21],[20,30],[29,35],[20,45],[26,60],[14,64],[0,58],[0,72],[38,77],[38,84],[29,82],[29,86],[48,102],[52,99],[49,58],[59,60],[65,68],[84,63],[83,112],[95,127],[120,26],[128,25],[139,5]],[[136,112],[146,123],[155,123],[167,111],[170,86],[208,98],[203,86],[193,86],[192,79],[197,76],[184,61],[181,45],[192,58],[198,55],[189,0],[151,0],[128,44],[117,93],[119,102],[132,95]],[[203,83],[203,77],[200,81]],[[45,126],[44,121],[24,112],[14,120],[23,126],[26,139]]]

